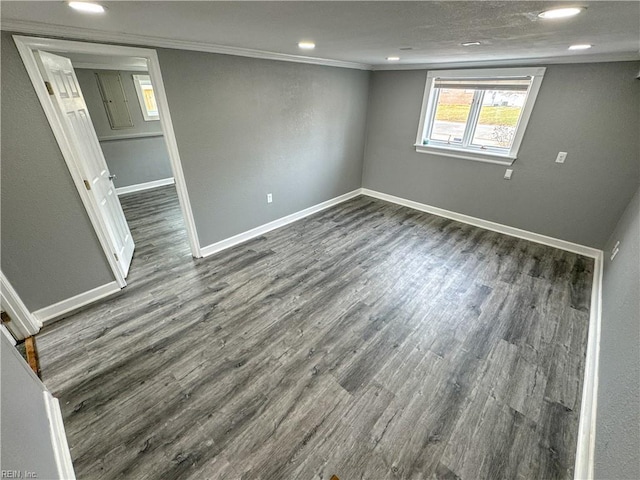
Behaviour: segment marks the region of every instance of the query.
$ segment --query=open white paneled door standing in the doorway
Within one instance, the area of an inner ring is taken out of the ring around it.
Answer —
[[[42,76],[48,82],[49,94],[55,97],[62,113],[63,127],[74,150],[76,165],[98,206],[113,255],[122,277],[126,278],[135,245],[71,60],[43,51],[35,53]]]

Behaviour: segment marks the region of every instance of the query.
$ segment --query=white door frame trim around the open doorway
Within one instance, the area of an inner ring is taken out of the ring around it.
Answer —
[[[117,262],[113,257],[112,252],[114,250],[111,246],[109,235],[107,234],[108,230],[106,222],[102,218],[102,215],[100,215],[95,199],[89,194],[89,192],[87,192],[84,186],[84,178],[82,177],[81,170],[74,159],[74,149],[71,147],[70,139],[67,138],[67,135],[65,134],[62,119],[59,117],[58,111],[47,92],[42,74],[40,73],[40,69],[38,68],[38,64],[34,56],[34,51],[44,50],[62,55],[65,53],[88,53],[117,57],[138,57],[144,58],[147,61],[149,76],[153,83],[156,103],[158,104],[158,111],[160,112],[160,125],[162,127],[165,144],[169,153],[171,169],[173,170],[176,190],[178,192],[178,200],[182,209],[187,236],[189,238],[191,255],[195,258],[200,258],[202,256],[200,252],[200,242],[198,241],[196,225],[193,218],[193,212],[191,210],[191,202],[189,201],[189,194],[184,180],[182,163],[180,162],[180,154],[178,152],[178,144],[173,131],[173,123],[169,112],[169,102],[167,101],[162,75],[160,73],[160,63],[158,61],[157,52],[148,48],[123,47],[120,45],[105,45],[100,43],[27,37],[22,35],[14,35],[13,39],[18,47],[18,52],[20,53],[20,57],[22,58],[27,73],[29,74],[31,83],[35,88],[40,103],[42,104],[47,120],[51,125],[56,141],[60,146],[62,156],[64,157],[67,167],[69,168],[69,172],[71,173],[71,177],[73,178],[73,183],[78,190],[78,194],[80,195],[82,203],[89,215],[91,224],[96,231],[107,262],[109,263],[120,288],[126,286],[127,282],[120,273]]]

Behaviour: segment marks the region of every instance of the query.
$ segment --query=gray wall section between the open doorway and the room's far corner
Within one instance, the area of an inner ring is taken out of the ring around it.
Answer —
[[[360,187],[369,72],[158,55],[201,245]]]

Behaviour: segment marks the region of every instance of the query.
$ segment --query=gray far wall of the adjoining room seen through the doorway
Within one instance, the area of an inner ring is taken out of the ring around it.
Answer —
[[[129,102],[129,111],[133,127],[111,130],[109,119],[100,97],[95,73],[97,70],[76,69],[82,94],[87,102],[93,126],[96,129],[100,146],[109,171],[117,178],[116,187],[126,187],[173,177],[169,153],[162,136],[159,121],[146,122],[142,116],[140,104],[133,83],[133,75],[145,72],[120,71],[125,96]],[[118,139],[118,135],[136,135],[139,138]],[[147,135],[155,134],[149,137]],[[144,135],[144,136],[143,136]],[[109,137],[116,137],[109,139]]]

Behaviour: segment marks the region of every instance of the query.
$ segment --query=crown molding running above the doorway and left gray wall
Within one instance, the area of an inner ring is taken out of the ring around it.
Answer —
[[[146,47],[174,48],[178,50],[192,50],[196,52],[220,53],[223,55],[235,55],[238,57],[261,58],[265,60],[306,63],[327,67],[351,68],[356,70],[371,70],[372,68],[371,65],[357,62],[345,62],[342,60],[330,60],[326,58],[290,55],[287,53],[267,52],[251,48],[228,47],[225,45],[216,45],[204,42],[171,40],[168,38],[135,35],[130,33],[112,33],[89,28],[51,25],[48,23],[29,22],[24,20],[2,19],[0,30],[15,33],[28,33],[31,35],[47,35],[57,38],[87,40],[92,42],[116,43],[120,45],[140,45]]]

